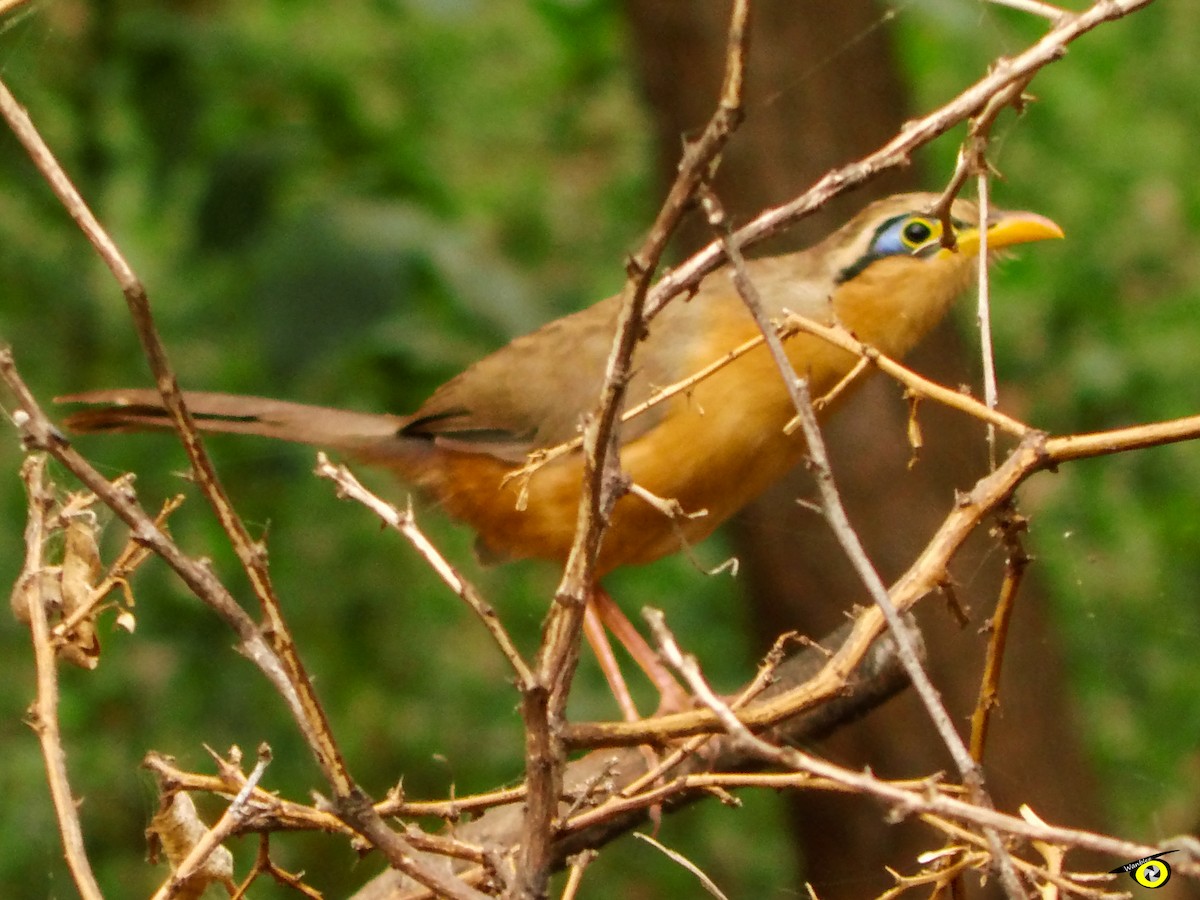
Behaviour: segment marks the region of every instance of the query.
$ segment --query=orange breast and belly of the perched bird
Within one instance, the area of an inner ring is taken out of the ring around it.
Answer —
[[[744,311],[734,308],[727,318],[714,329],[709,347],[697,349],[692,371],[755,334]],[[792,338],[787,350],[797,371],[809,377],[814,396],[832,388],[854,361],[809,336]],[[784,434],[793,409],[764,348],[670,403],[658,426],[622,448],[622,466],[650,493],[678,500],[686,512],[707,515],[674,521],[640,497],[620,498],[601,546],[600,575],[702,540],[803,455],[803,440]],[[527,482],[523,509],[517,508],[516,480],[502,486],[515,469],[511,463],[452,450],[434,450],[432,456],[436,460],[426,457],[416,472],[402,474],[473,527],[490,550],[512,558],[566,559],[578,515],[580,452],[539,469]]]

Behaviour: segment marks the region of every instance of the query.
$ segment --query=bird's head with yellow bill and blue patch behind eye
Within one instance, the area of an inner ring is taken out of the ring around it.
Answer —
[[[983,246],[979,209],[970,200],[950,208],[954,241],[943,240],[937,194],[906,193],[872,203],[834,232],[824,251],[838,320],[888,355],[904,355],[971,283]],[[1034,212],[992,209],[986,245],[1062,238],[1062,229]],[[947,247],[952,242],[953,247]]]

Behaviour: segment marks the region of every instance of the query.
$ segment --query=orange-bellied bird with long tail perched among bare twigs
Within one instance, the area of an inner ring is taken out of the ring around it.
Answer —
[[[884,355],[904,356],[965,293],[983,240],[974,203],[956,199],[943,217],[936,212],[938,200],[934,193],[876,200],[805,250],[748,260],[745,272],[764,312],[778,318],[790,311],[836,324]],[[944,227],[953,229],[953,240],[943,235]],[[985,229],[989,251],[1063,236],[1051,220],[1024,211],[992,209]],[[434,390],[409,415],[204,391],[185,391],[184,397],[202,431],[310,444],[390,469],[473,528],[484,558],[563,563],[575,539],[582,450],[533,470],[523,467],[530,455],[580,434],[600,396],[620,302],[619,295],[610,296],[515,338]],[[648,400],[758,334],[731,270],[716,269],[648,324],[635,352],[628,404]],[[858,361],[809,334],[792,335],[785,349],[814,397],[838,385]],[[58,400],[88,404],[66,419],[76,432],[170,425],[154,389]],[[644,492],[625,493],[612,509],[584,622],[610,683],[620,674],[606,667],[598,646],[604,628],[596,619],[626,646],[660,692],[672,692],[673,684],[599,580],[703,540],[794,467],[805,454],[803,437],[786,428],[794,414],[775,364],[758,346],[619,426],[620,466],[629,481],[677,502],[686,515],[670,515]],[[628,691],[618,701],[626,718],[636,715]]]

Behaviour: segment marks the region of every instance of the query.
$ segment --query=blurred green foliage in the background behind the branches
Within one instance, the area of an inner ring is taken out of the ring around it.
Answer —
[[[894,11],[881,22],[917,109],[1040,28],[968,0]],[[1158,4],[1076,44],[1038,77],[1039,102],[1004,120],[997,202],[1048,212],[1070,238],[1010,266],[996,313],[1008,402],[1048,430],[1196,412],[1198,40],[1200,10]],[[185,384],[364,409],[412,408],[509,336],[619,286],[659,196],[628,53],[611,0],[62,0],[0,23],[2,77],[145,281]],[[949,172],[955,149],[940,142],[926,170]],[[146,380],[116,287],[6,131],[0,283],[0,338],[41,397]],[[140,473],[148,504],[188,494],[173,522],[180,544],[212,556],[248,596],[168,438],[79,445],[112,475]],[[472,616],[397,538],[308,476],[310,451],[248,439],[212,449],[269,539],[289,622],[365,787],[378,796],[403,779],[409,796],[440,797],[517,779],[517,697]],[[19,458],[8,440],[8,581],[24,520]],[[403,499],[386,479],[372,484]],[[1039,479],[1026,505],[1114,826],[1144,838],[1194,827],[1200,452],[1072,466]],[[434,512],[421,521],[532,650],[554,572],[480,570],[469,535]],[[120,524],[106,538],[115,551]],[[721,558],[714,545],[701,548],[706,562]],[[665,606],[724,686],[752,665],[727,578],[676,559],[622,572],[613,589],[630,610]],[[270,788],[304,798],[322,787],[232,636],[161,565],[134,592],[137,635],[106,629],[100,668],[62,672],[73,787],[114,896],[151,890],[163,871],[140,852],[155,805],[136,766],[148,750],[204,768],[202,740],[247,752],[266,740]],[[32,697],[22,629],[0,629],[0,893],[70,895],[22,722]],[[611,713],[589,662],[581,679],[574,712]],[[746,802],[672,816],[660,836],[731,896],[791,894],[780,814],[770,797]],[[244,871],[252,842],[234,850]],[[320,836],[281,838],[274,851],[330,896],[378,868]],[[696,893],[691,876],[632,841],[602,854],[588,883],[630,898]]]

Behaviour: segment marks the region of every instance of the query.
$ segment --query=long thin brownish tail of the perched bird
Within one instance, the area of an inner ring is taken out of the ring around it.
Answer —
[[[400,432],[408,421],[398,415],[354,413],[236,394],[185,391],[184,400],[200,431],[259,434],[354,455],[378,455],[390,438],[402,443]],[[162,398],[155,390],[86,391],[56,397],[56,401],[92,407],[67,416],[66,426],[77,432],[170,427]]]

